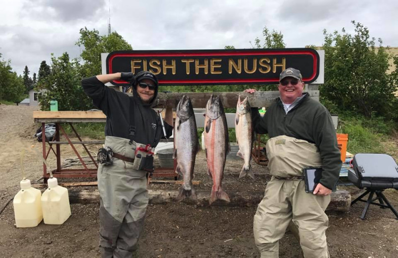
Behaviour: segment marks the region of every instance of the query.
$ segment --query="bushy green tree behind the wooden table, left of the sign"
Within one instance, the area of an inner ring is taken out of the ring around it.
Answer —
[[[89,110],[93,108],[92,101],[86,96],[80,84],[81,67],[77,60],[70,61],[68,53],[56,58],[51,54],[51,73],[38,85],[39,89],[46,90],[39,100],[42,110],[50,109],[50,100],[58,101],[58,109]]]

